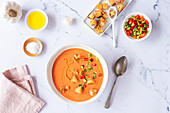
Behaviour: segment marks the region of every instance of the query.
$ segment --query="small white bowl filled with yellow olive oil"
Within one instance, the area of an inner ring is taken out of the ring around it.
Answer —
[[[48,16],[41,9],[31,9],[25,16],[25,24],[32,31],[42,31],[47,27]]]

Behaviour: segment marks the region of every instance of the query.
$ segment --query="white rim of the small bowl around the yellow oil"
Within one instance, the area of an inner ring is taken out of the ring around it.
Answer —
[[[37,29],[37,30],[30,28],[29,25],[28,25],[28,22],[27,22],[28,16],[29,16],[32,12],[35,12],[35,11],[41,12],[41,13],[45,16],[45,19],[46,19],[45,25],[44,25],[41,29]],[[30,29],[31,31],[42,31],[42,30],[44,30],[44,29],[47,27],[47,25],[48,25],[48,16],[47,16],[47,14],[46,14],[43,10],[41,10],[41,9],[31,9],[31,10],[28,11],[28,13],[27,13],[26,16],[25,16],[25,25],[26,25],[27,28]]]

